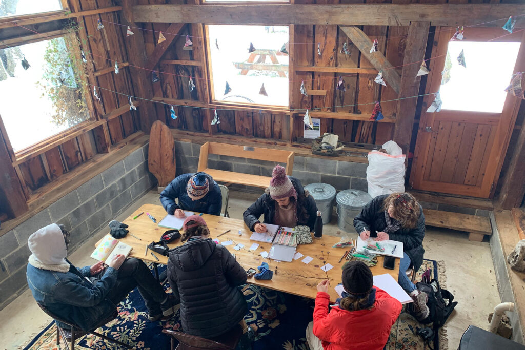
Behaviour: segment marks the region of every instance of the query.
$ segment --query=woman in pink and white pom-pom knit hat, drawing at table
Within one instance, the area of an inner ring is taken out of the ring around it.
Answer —
[[[301,182],[287,176],[285,168],[276,165],[265,193],[243,214],[244,222],[252,231],[265,232],[265,224],[286,227],[309,226],[313,230],[317,205]],[[264,214],[264,221],[259,218]]]

